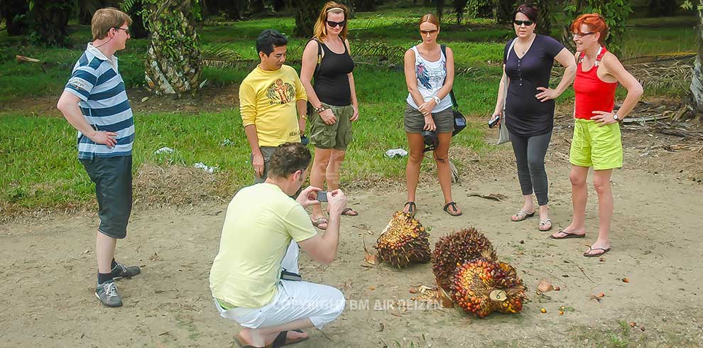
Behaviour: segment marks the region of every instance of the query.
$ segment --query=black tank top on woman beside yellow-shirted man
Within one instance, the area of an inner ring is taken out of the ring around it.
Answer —
[[[349,87],[349,77],[347,74],[354,70],[354,60],[351,60],[347,45],[344,45],[344,53],[334,53],[322,43],[322,62],[317,67],[315,75],[315,94],[320,102],[334,105],[335,107],[346,107],[351,105],[351,88]]]

